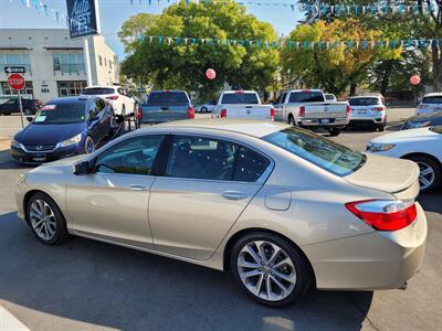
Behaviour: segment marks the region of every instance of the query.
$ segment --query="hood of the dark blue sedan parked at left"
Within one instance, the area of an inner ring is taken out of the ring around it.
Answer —
[[[14,139],[23,145],[56,145],[84,131],[84,122],[65,125],[30,124]]]

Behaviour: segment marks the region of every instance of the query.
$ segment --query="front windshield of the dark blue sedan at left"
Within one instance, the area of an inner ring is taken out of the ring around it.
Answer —
[[[50,124],[74,124],[85,121],[86,113],[84,105],[46,105],[36,113],[35,125]]]

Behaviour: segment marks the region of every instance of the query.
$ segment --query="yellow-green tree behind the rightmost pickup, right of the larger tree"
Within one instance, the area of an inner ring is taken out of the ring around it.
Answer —
[[[371,47],[371,41],[381,39],[380,31],[368,30],[356,19],[298,25],[290,40],[306,41],[307,47],[299,45],[298,50],[282,51],[283,75],[287,79],[297,77],[306,86],[322,87],[334,94],[341,94],[350,85],[354,87],[350,94],[354,94],[355,86],[367,81],[376,61],[400,58],[400,49],[379,47],[378,44]],[[360,43],[364,40],[367,41],[366,49]],[[339,41],[336,49],[335,41]],[[341,41],[345,41],[345,46]],[[315,49],[311,47],[311,42],[315,42]],[[323,43],[322,50],[318,42]],[[325,50],[327,42],[329,50]]]

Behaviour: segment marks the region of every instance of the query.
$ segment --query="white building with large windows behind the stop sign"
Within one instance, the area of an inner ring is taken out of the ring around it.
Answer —
[[[118,58],[101,35],[90,38],[92,85],[119,79]],[[87,85],[82,39],[70,39],[67,29],[0,30],[0,98],[14,94],[8,86],[7,66],[24,66],[27,97],[48,102],[78,95]]]

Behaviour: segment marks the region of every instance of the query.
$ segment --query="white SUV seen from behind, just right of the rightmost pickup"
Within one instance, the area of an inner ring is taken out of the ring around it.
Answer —
[[[383,131],[387,126],[387,106],[381,95],[352,96],[350,105],[350,125],[369,126]]]

